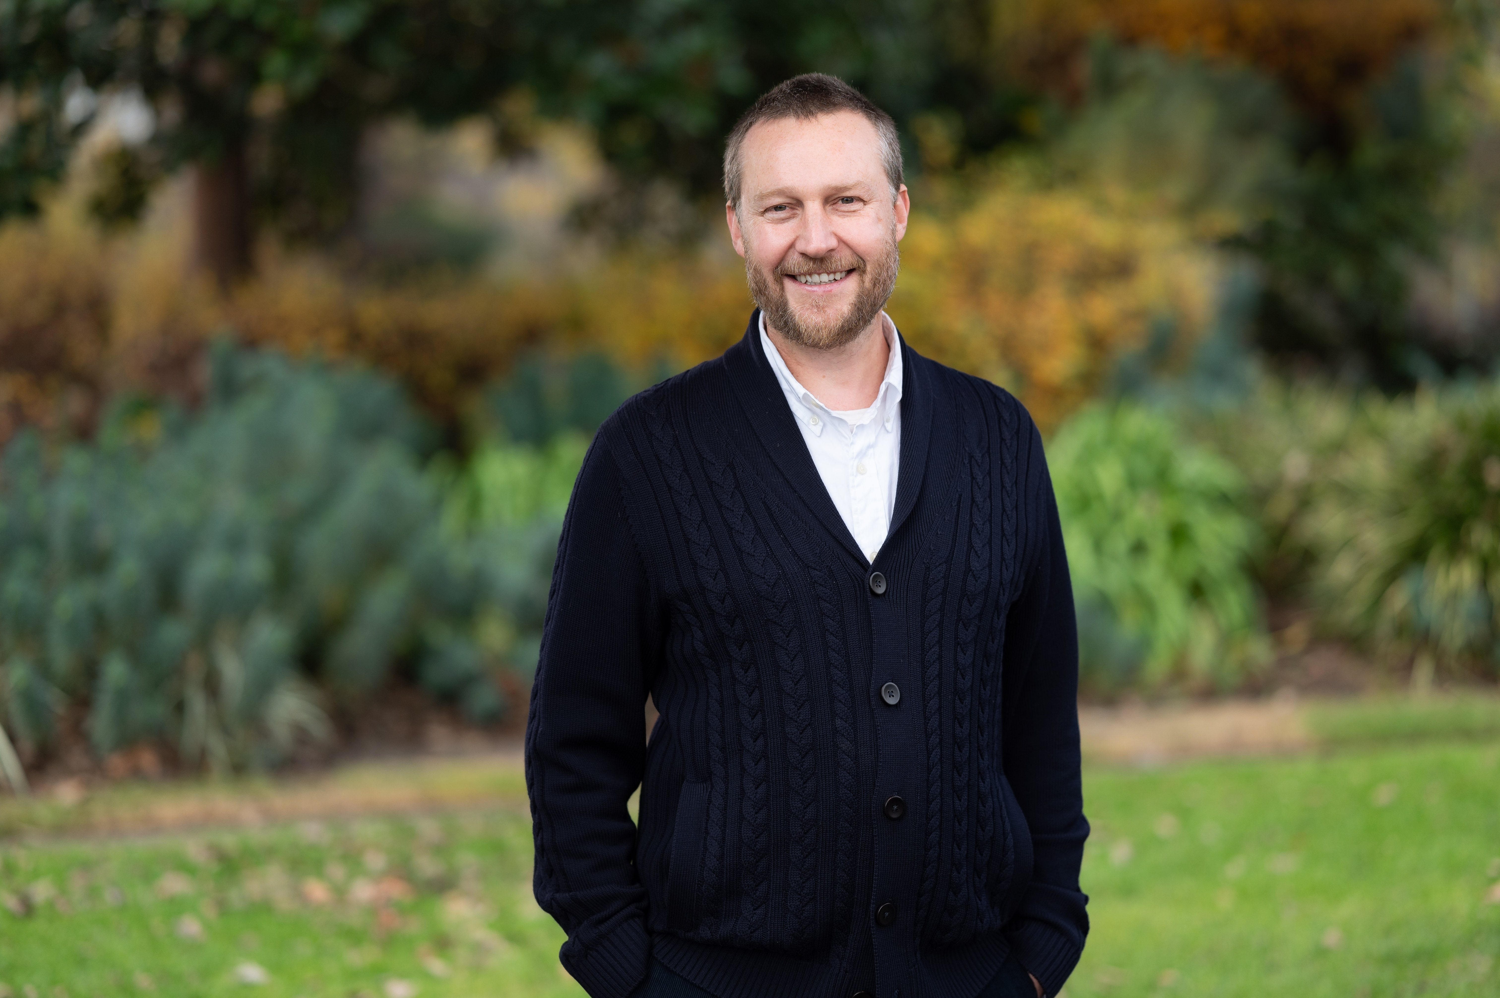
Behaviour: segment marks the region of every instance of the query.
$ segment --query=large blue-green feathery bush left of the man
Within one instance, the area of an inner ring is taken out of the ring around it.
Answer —
[[[358,702],[398,669],[498,716],[556,536],[444,533],[429,437],[388,378],[220,345],[201,411],[124,404],[57,453],[14,438],[4,726],[36,747],[78,705],[99,753],[166,738],[224,770],[326,737],[322,692]]]

